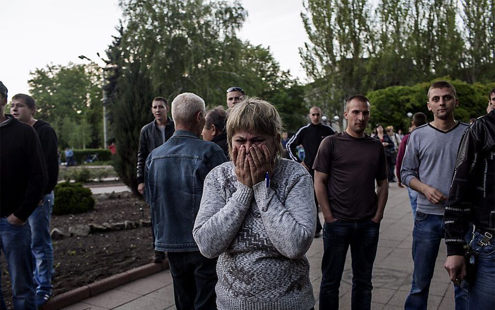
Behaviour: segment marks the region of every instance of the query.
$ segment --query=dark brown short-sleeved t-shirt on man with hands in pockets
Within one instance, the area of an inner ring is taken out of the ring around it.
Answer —
[[[377,209],[375,180],[388,178],[385,150],[380,140],[354,138],[346,131],[320,144],[313,169],[328,174],[328,200],[338,220],[362,221]]]

